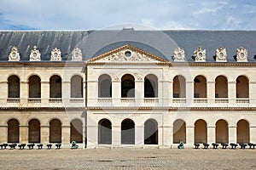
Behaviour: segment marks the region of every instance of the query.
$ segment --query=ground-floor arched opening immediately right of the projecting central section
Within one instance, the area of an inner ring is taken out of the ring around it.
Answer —
[[[173,122],[173,144],[186,143],[186,123],[177,119]]]

